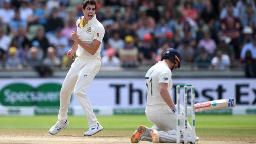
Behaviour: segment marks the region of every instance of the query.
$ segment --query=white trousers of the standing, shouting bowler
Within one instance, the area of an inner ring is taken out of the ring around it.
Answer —
[[[78,56],[74,63],[72,63],[60,90],[59,123],[64,123],[67,120],[72,91],[87,115],[89,127],[99,123],[95,113],[93,113],[91,102],[86,95],[86,89],[99,70],[100,59],[89,59]]]

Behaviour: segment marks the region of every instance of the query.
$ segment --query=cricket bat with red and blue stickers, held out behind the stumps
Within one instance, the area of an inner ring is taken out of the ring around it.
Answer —
[[[195,112],[200,111],[210,111],[215,109],[225,109],[236,106],[236,99],[221,99],[221,100],[212,100],[208,102],[195,103]],[[191,107],[187,108],[188,111],[191,110]]]

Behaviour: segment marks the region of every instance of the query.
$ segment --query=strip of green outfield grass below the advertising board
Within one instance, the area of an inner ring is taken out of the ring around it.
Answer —
[[[124,132],[130,137],[133,131],[143,124],[152,126],[144,115],[97,116],[104,126],[104,133]],[[190,117],[189,117],[190,119]],[[0,129],[39,129],[48,130],[57,120],[56,115],[42,116],[0,116]],[[87,130],[85,116],[69,116],[69,127],[65,131]],[[204,140],[256,140],[256,115],[196,115],[196,133]],[[255,141],[253,141],[255,142]]]

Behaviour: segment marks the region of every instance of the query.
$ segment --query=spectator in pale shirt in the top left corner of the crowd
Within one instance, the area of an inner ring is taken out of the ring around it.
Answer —
[[[3,24],[9,24],[9,22],[15,17],[15,11],[11,9],[10,2],[5,2],[4,7],[0,8],[0,22]]]

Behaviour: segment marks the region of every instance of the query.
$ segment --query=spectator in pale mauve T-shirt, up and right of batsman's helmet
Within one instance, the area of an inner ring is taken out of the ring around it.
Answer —
[[[205,50],[211,55],[213,54],[215,48],[216,48],[216,43],[211,39],[209,31],[204,32],[204,39],[201,39],[198,44],[198,48],[204,47]]]

